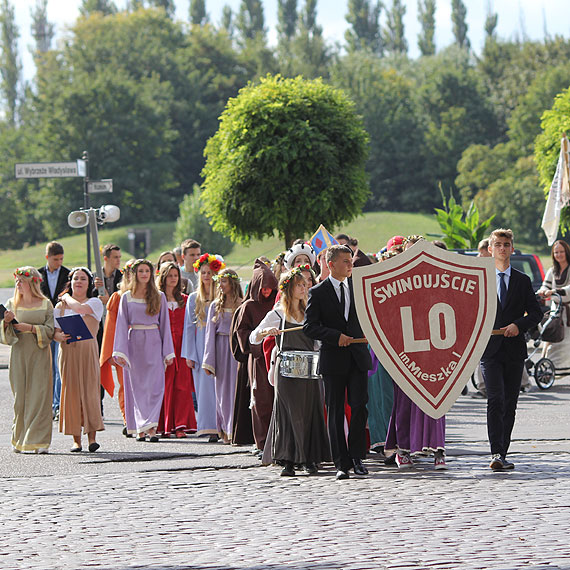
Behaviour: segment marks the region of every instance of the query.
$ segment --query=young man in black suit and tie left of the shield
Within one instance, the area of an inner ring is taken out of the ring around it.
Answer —
[[[372,367],[366,344],[352,344],[363,338],[352,290],[352,250],[334,245],[326,252],[330,275],[309,291],[303,330],[322,342],[319,369],[325,384],[328,431],[337,480],[348,479],[349,470],[367,475],[368,370]],[[351,409],[348,446],[344,434],[345,393]]]

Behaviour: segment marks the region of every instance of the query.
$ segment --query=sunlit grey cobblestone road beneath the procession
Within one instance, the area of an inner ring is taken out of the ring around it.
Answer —
[[[279,477],[247,448],[120,435],[106,399],[101,452],[10,451],[0,370],[0,569],[570,569],[570,382],[521,396],[512,472],[488,467],[485,402],[448,415],[446,472],[335,482]]]

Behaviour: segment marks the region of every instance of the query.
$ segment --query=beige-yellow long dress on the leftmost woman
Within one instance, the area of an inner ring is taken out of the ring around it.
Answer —
[[[54,332],[53,306],[44,299],[39,307],[14,309],[14,300],[10,299],[6,308],[18,322],[34,325],[34,332],[16,332],[12,324],[4,328],[4,321],[0,321],[0,342],[12,347],[12,445],[18,451],[35,451],[51,443],[53,387],[49,345]]]

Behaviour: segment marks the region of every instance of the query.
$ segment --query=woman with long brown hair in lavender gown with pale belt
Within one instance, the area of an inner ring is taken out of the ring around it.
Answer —
[[[152,263],[137,259],[121,297],[113,357],[124,368],[127,431],[137,441],[158,441],[165,366],[174,361],[168,305],[154,283]]]

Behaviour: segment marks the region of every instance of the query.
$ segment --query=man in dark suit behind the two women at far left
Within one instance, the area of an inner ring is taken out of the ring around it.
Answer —
[[[55,307],[59,301],[59,295],[67,285],[67,278],[69,277],[69,269],[63,266],[63,246],[56,242],[50,241],[46,245],[46,259],[47,263],[44,267],[40,267],[38,271],[42,276],[40,289],[42,293],[51,301]],[[51,348],[51,366],[53,376],[53,417],[59,417],[59,400],[61,395],[61,378],[59,376],[59,368],[57,366],[57,352],[59,343],[52,340]]]

